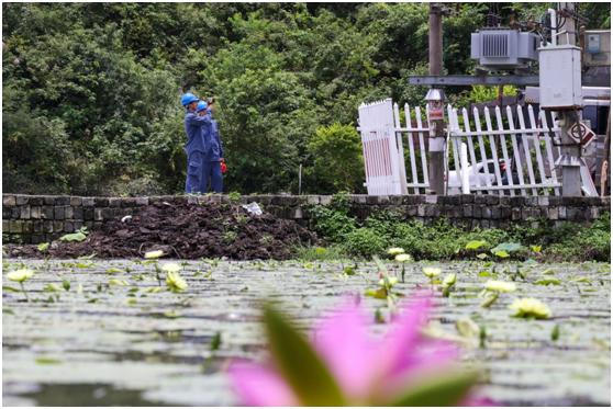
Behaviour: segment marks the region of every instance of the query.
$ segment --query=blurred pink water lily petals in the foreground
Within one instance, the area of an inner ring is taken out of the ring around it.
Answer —
[[[431,308],[430,296],[415,297],[401,308],[382,339],[369,334],[372,320],[361,307],[348,300],[315,326],[311,346],[336,380],[346,405],[397,405],[402,401],[400,397],[422,386],[424,379],[436,379],[458,370],[458,349],[422,333]],[[304,405],[274,362],[235,362],[229,371],[243,405]],[[487,400],[471,397],[471,385],[462,390],[450,405],[489,405]],[[432,394],[441,391],[434,388]]]

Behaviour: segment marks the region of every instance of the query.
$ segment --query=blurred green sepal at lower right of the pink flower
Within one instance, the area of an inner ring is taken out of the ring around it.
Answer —
[[[478,374],[447,371],[421,378],[391,406],[458,406],[477,383]]]

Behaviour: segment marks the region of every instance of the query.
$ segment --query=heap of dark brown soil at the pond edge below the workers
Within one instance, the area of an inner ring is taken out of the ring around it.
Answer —
[[[316,242],[316,236],[293,220],[264,213],[249,215],[230,204],[155,204],[133,217],[104,223],[81,242],[54,241],[48,254],[73,258],[96,253],[98,258],[143,257],[164,250],[170,258],[227,257],[234,260],[277,259],[292,255],[297,245]],[[41,257],[36,246],[9,247],[10,255]]]

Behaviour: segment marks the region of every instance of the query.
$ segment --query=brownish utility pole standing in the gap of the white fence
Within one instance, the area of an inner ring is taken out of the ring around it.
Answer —
[[[428,34],[428,58],[430,75],[441,76],[443,73],[443,10],[438,3],[430,3],[430,34]],[[438,91],[438,92],[432,92]],[[432,96],[434,95],[434,96]],[[443,114],[444,93],[442,90],[431,89],[428,91],[430,104],[430,140],[428,140],[428,175],[430,190],[432,193],[442,195],[445,193],[445,120]],[[441,101],[432,98],[438,98]],[[433,105],[437,106],[436,114],[433,115]]]

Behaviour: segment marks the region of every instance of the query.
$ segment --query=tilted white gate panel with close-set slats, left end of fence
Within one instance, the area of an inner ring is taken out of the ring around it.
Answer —
[[[404,194],[401,180],[400,152],[394,133],[392,101],[387,99],[359,106],[359,127],[370,195]]]

